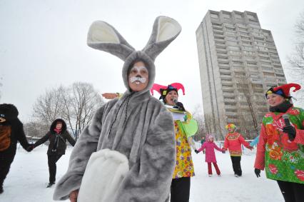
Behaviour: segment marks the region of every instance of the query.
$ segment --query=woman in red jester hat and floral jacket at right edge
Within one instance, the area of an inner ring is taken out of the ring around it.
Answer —
[[[255,157],[255,175],[278,182],[285,201],[304,198],[304,110],[293,106],[290,88],[298,91],[298,84],[284,84],[270,88],[265,96],[269,111],[263,118]]]

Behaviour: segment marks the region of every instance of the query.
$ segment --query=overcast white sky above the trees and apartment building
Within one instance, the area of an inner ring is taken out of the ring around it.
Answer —
[[[272,31],[286,66],[303,0],[0,0],[0,103],[14,103],[26,122],[36,99],[61,84],[83,81],[100,93],[125,91],[123,61],[89,48],[88,27],[96,20],[107,21],[131,46],[143,49],[154,19],[164,15],[176,19],[183,30],[156,58],[155,82],[182,83],[186,96],[180,94],[180,100],[193,111],[202,105],[196,29],[208,9],[257,13],[261,27]]]

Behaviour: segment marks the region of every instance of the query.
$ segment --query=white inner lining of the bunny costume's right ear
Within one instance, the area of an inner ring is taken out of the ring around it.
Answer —
[[[156,42],[166,41],[176,36],[181,31],[181,25],[177,21],[161,17],[158,19],[158,34],[156,36]]]

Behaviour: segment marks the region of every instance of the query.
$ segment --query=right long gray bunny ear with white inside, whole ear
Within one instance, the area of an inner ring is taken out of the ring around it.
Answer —
[[[174,19],[166,16],[158,16],[153,24],[152,34],[148,44],[143,49],[154,61],[156,56],[176,39],[181,32],[181,25]]]

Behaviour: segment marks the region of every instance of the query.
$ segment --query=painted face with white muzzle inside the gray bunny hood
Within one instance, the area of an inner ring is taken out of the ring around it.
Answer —
[[[148,69],[142,61],[138,61],[131,68],[128,75],[128,85],[132,91],[142,91],[148,85]]]

